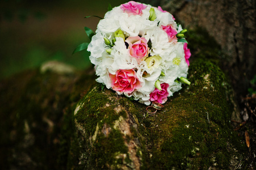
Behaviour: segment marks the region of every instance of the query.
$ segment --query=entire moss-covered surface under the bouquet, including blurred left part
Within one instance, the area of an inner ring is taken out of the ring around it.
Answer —
[[[156,116],[102,89],[93,69],[28,70],[2,80],[1,168],[247,169],[245,140],[230,126],[239,113],[217,66],[219,47],[202,29],[189,42],[191,84]]]

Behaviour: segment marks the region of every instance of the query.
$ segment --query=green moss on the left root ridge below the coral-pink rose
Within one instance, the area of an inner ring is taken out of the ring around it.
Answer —
[[[83,143],[82,145],[85,146],[82,147],[83,154],[88,158],[82,161],[78,168],[96,169],[98,167],[106,169],[114,164],[121,165],[131,162],[127,152],[128,148],[125,145],[131,140],[131,136],[127,135],[124,138],[120,130],[115,129],[115,122],[120,121],[120,117],[126,118],[127,112],[124,110],[115,111],[115,108],[118,108],[120,104],[112,99],[113,96],[115,96],[115,93],[110,92],[110,90],[106,88],[101,90],[100,86],[95,86],[80,101],[81,104],[85,104],[75,115],[75,120],[83,126],[85,134],[82,135],[85,135],[86,139],[73,143],[73,146],[78,145],[79,147]],[[108,129],[106,134],[101,132],[103,126]],[[122,155],[127,156],[122,157]]]

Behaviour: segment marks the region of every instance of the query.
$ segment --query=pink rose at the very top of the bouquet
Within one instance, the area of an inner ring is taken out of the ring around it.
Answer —
[[[130,1],[127,3],[124,3],[121,5],[121,10],[126,12],[129,16],[130,15],[142,15],[144,10],[146,8],[146,5],[143,5],[142,3],[137,3],[134,1]]]

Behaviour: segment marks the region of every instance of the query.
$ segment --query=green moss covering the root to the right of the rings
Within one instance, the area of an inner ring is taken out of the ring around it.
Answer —
[[[237,145],[239,138],[230,129],[232,109],[226,100],[225,75],[203,59],[195,59],[190,68],[189,88],[171,97],[166,109],[146,122],[152,135],[148,139],[155,144],[152,169],[228,168],[233,154],[241,157],[227,144]],[[150,129],[150,123],[158,127]]]

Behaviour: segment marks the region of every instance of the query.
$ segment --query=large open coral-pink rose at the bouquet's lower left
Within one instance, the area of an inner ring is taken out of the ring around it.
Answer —
[[[111,87],[115,91],[131,94],[135,89],[140,88],[140,81],[137,79],[135,70],[117,70],[116,74],[110,74]]]

